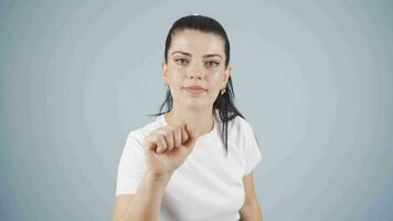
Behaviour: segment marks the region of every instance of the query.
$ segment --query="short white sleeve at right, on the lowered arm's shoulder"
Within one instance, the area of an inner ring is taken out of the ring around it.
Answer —
[[[258,141],[255,137],[254,130],[249,123],[245,122],[245,151],[246,151],[246,167],[245,173],[248,175],[254,170],[256,165],[262,160]]]

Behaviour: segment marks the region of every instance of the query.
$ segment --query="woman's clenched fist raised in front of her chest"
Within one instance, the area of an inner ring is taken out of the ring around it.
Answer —
[[[187,125],[163,126],[145,139],[147,168],[151,175],[173,172],[192,151],[197,137]]]

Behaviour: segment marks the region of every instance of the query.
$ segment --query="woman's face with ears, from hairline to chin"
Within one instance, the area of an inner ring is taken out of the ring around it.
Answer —
[[[225,88],[231,67],[225,69],[224,41],[195,30],[178,32],[162,63],[163,81],[173,105],[183,108],[212,108],[220,90]]]

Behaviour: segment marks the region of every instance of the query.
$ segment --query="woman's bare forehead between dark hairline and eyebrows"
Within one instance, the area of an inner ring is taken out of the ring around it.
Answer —
[[[184,30],[172,38],[169,53],[184,51],[191,54],[221,54],[224,56],[224,41],[213,33],[195,30]]]

